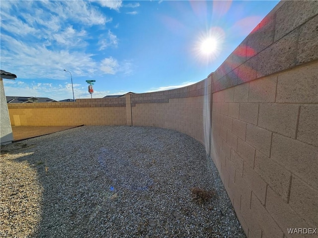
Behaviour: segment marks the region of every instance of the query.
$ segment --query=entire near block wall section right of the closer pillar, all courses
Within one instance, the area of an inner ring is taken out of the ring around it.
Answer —
[[[281,1],[212,93],[211,157],[248,238],[318,228],[318,1]]]

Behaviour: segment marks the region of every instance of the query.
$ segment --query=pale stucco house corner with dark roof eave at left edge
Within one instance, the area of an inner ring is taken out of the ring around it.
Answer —
[[[4,70],[0,70],[0,143],[1,145],[9,144],[13,140],[11,122],[8,112],[8,106],[5,101],[5,93],[3,87],[2,79],[12,79],[15,80],[16,75]]]

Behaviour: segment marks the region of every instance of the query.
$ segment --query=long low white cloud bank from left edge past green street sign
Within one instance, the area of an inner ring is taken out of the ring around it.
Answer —
[[[9,65],[16,65],[18,59],[19,67],[14,69],[14,73],[19,78],[68,78],[69,75],[63,69],[70,70],[73,76],[87,76],[96,72],[122,72],[125,75],[132,73],[133,63],[129,60],[119,63],[109,57],[99,63],[91,58],[92,54],[84,52],[53,51],[44,45],[27,45],[6,35],[1,36],[1,41],[9,49],[1,51],[1,65],[3,68],[11,68]]]

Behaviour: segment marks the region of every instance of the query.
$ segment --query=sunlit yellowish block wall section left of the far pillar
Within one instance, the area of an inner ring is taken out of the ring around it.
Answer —
[[[125,125],[125,98],[77,99],[69,103],[8,104],[12,125]]]

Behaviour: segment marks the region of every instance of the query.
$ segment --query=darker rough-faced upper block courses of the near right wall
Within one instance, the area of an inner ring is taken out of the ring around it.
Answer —
[[[213,73],[212,93],[317,60],[318,1],[280,1]]]

